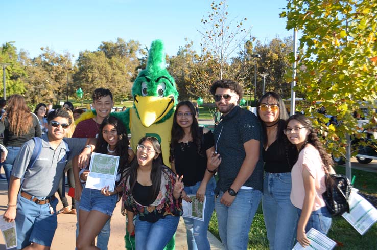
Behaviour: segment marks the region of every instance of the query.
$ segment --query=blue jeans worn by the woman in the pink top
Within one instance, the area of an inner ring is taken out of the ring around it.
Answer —
[[[297,208],[298,213],[298,220],[301,216],[301,209]],[[297,223],[298,223],[297,220]],[[331,214],[328,212],[327,207],[324,206],[322,208],[317,209],[316,211],[312,211],[310,214],[307,226],[305,226],[305,232],[308,232],[311,228],[314,228],[321,232],[322,234],[327,235],[328,230],[331,227]]]

